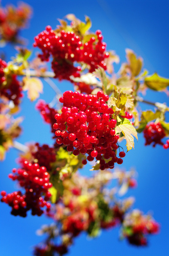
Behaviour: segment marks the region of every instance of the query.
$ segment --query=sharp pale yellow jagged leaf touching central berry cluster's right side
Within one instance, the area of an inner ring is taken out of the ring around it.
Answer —
[[[134,137],[137,138],[137,131],[134,126],[130,123],[129,119],[121,118],[121,123],[116,126],[116,133],[122,132],[126,139],[127,151],[134,148]],[[134,136],[134,137],[133,137]]]

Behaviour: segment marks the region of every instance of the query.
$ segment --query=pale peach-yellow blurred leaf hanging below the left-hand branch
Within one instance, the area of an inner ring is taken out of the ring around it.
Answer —
[[[34,101],[39,97],[39,93],[43,93],[43,84],[39,78],[24,77],[23,83],[23,90],[28,91],[28,99]]]

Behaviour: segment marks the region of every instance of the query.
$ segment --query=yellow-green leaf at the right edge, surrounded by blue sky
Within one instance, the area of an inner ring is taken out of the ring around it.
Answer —
[[[157,73],[144,79],[146,86],[155,91],[160,91],[169,86],[169,79],[160,77]]]

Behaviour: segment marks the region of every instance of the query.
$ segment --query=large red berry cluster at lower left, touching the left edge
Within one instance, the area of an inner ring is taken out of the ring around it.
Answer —
[[[43,214],[41,208],[44,206],[49,211],[51,204],[47,201],[50,199],[51,193],[48,189],[52,187],[52,184],[49,181],[50,175],[46,167],[25,161],[23,168],[14,168],[12,172],[9,174],[9,178],[13,181],[17,180],[20,187],[25,189],[25,194],[20,191],[7,195],[4,191],[1,192],[3,196],[1,201],[12,207],[11,214],[25,217],[26,212],[31,209],[32,215],[40,216]]]

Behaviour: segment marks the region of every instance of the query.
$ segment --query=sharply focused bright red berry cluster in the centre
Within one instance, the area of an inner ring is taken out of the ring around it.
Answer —
[[[62,114],[55,115],[56,143],[67,146],[67,151],[74,155],[87,153],[88,161],[95,157],[101,170],[114,168],[115,162],[122,164],[125,153],[116,156],[119,135],[114,130],[117,121],[112,118],[113,109],[106,103],[109,96],[102,91],[97,95],[66,91],[59,100],[63,108]],[[86,164],[86,159],[82,163]]]

